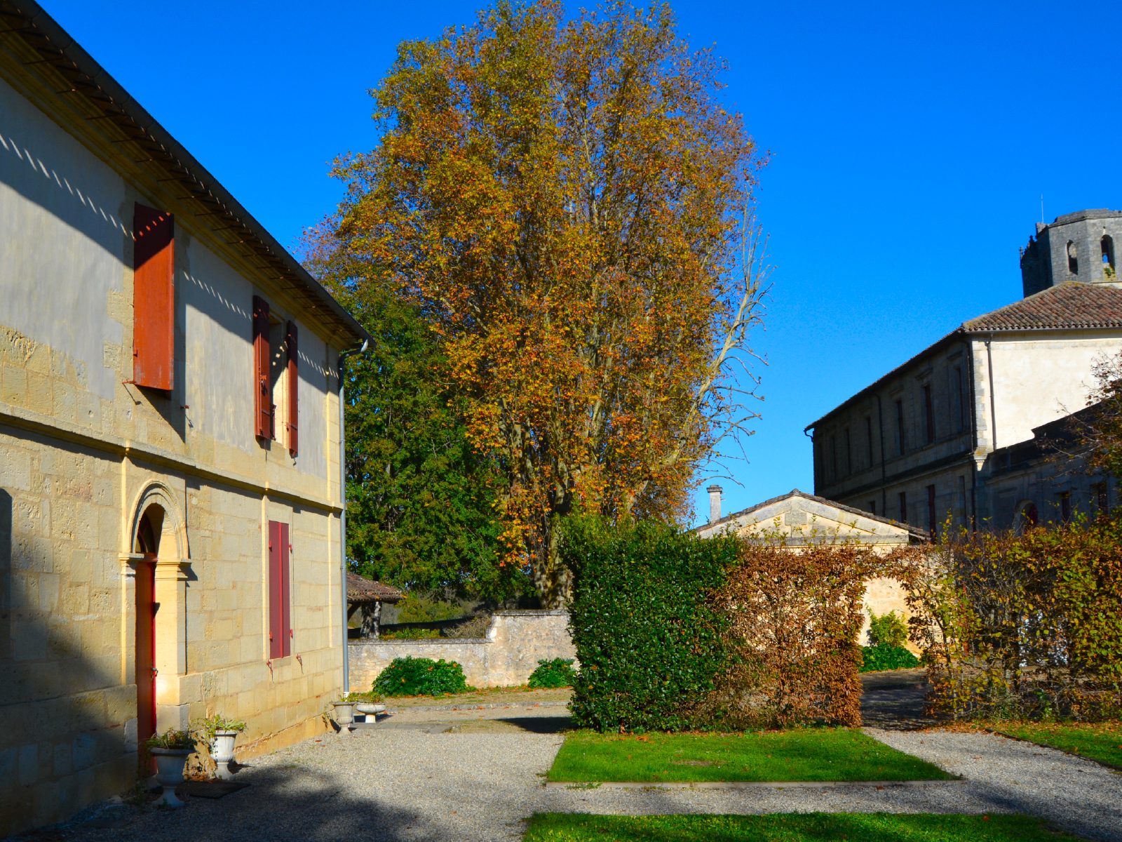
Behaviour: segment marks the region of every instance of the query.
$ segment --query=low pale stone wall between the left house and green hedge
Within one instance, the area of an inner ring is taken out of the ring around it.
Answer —
[[[568,611],[498,611],[486,638],[356,640],[350,655],[350,688],[365,690],[394,658],[443,658],[463,667],[473,687],[525,684],[539,660],[574,658]]]

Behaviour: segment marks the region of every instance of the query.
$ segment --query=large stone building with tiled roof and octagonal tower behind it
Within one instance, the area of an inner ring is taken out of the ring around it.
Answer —
[[[1038,227],[1021,262],[1027,298],[964,322],[807,428],[816,493],[930,532],[948,516],[1015,523],[1032,501],[999,488],[991,460],[1085,406],[1095,361],[1122,348],[1115,235],[1116,211]],[[1057,244],[1070,264],[1057,260]],[[1093,507],[1103,495],[1092,486],[1107,487],[1045,474],[1049,498],[1065,505]]]

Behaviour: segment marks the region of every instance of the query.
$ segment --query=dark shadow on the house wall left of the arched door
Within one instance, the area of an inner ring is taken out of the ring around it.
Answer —
[[[0,488],[0,838],[111,797],[136,775],[122,724],[136,689],[120,684],[120,653],[95,663],[79,624],[49,622],[59,598],[49,544],[17,531],[19,520]]]

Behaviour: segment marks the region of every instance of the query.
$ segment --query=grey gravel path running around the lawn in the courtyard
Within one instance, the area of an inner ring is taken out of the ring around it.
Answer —
[[[771,813],[808,811],[1031,813],[1092,839],[1122,842],[1122,775],[1005,738],[868,729],[965,782],[761,789],[544,788],[563,710],[402,711],[375,730],[324,736],[254,761],[251,784],[180,811],[103,813],[52,839],[75,842],[280,839],[370,842],[522,839],[534,812]]]

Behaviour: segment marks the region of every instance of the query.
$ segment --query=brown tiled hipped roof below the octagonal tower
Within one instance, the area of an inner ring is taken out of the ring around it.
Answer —
[[[963,322],[967,333],[990,330],[1122,328],[1122,290],[1066,283]]]

